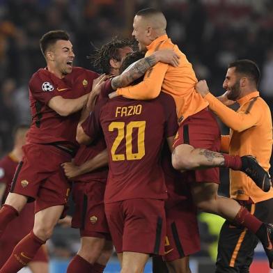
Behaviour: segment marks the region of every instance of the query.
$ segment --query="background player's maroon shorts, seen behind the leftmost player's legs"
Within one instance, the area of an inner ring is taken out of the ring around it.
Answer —
[[[34,203],[28,203],[20,212],[19,217],[8,224],[8,228],[0,238],[0,268],[10,257],[14,247],[33,229],[34,224]],[[20,227],[20,228],[18,228]],[[48,262],[45,246],[42,246],[32,262]]]

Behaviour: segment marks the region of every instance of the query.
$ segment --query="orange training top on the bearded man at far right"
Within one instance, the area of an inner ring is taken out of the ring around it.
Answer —
[[[240,98],[240,108],[236,111],[226,107],[211,93],[205,95],[210,109],[231,128],[228,136],[221,138],[221,150],[230,155],[253,155],[263,168],[270,169],[272,153],[272,118],[270,108],[260,98],[258,91]],[[254,203],[273,198],[273,189],[263,192],[241,171],[230,171],[231,198],[251,200]]]

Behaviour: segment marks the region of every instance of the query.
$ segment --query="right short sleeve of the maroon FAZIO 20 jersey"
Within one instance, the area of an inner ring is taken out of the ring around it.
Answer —
[[[178,130],[178,118],[176,114],[176,102],[169,94],[161,92],[157,97],[162,104],[165,115],[165,136],[172,137]]]

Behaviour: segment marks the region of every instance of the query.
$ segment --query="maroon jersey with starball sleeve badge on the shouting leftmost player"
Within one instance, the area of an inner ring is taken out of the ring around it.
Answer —
[[[31,143],[64,141],[77,146],[76,129],[81,111],[70,116],[60,116],[47,106],[52,98],[61,95],[65,99],[79,98],[92,90],[93,79],[98,74],[84,68],[59,79],[47,69],[39,69],[29,81],[29,100],[32,124],[27,134]]]

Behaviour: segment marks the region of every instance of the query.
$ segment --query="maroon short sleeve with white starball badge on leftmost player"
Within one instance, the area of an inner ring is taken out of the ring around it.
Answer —
[[[52,79],[41,73],[33,75],[29,81],[29,91],[35,100],[47,104],[49,100],[60,95],[56,89],[56,86]]]

